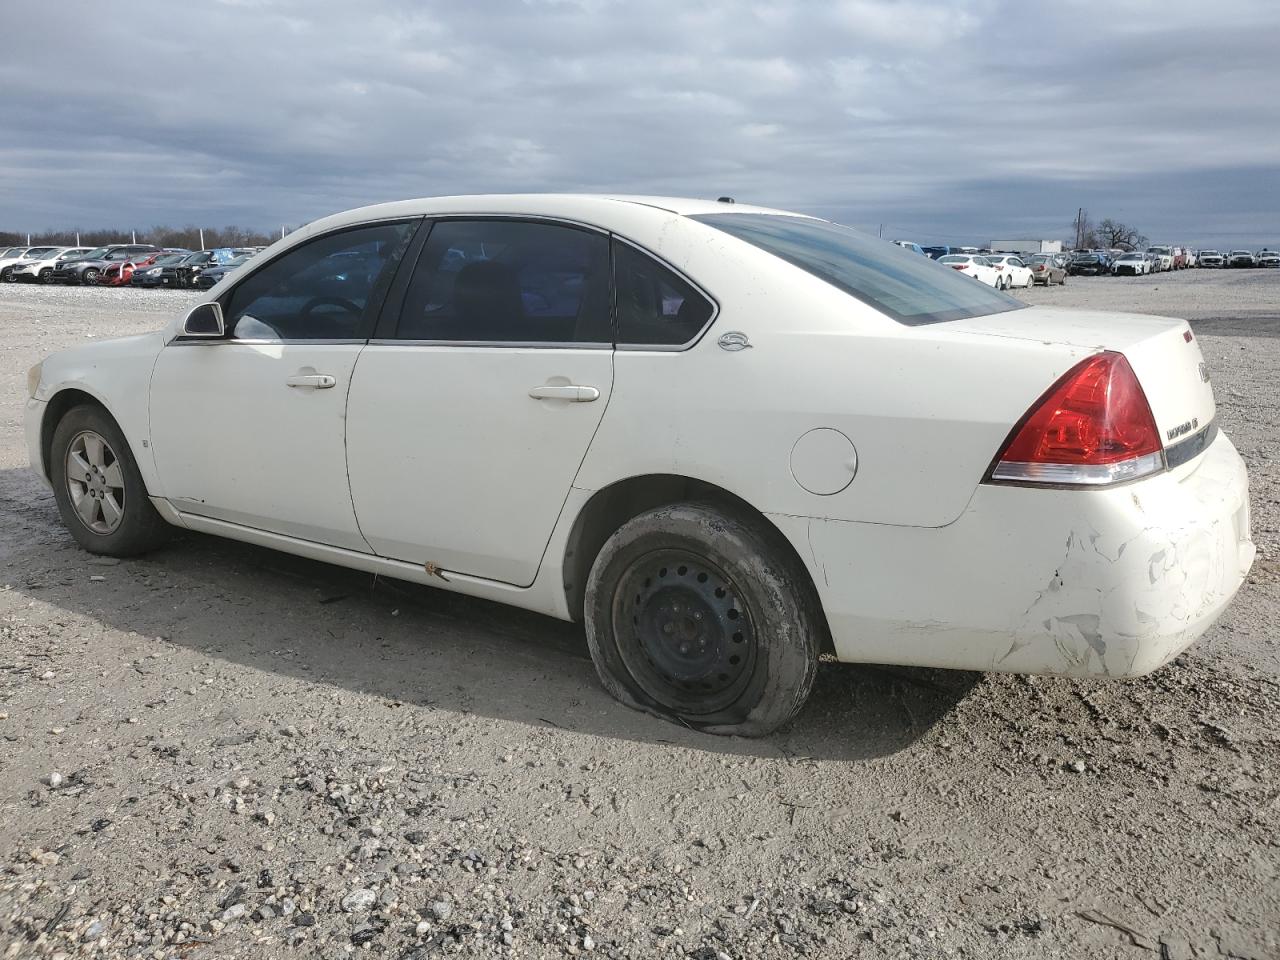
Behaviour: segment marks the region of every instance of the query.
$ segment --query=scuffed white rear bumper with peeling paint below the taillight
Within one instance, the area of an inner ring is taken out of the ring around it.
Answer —
[[[772,520],[850,662],[1142,676],[1199,639],[1254,556],[1248,477],[1221,433],[1107,490],[982,485],[945,527]]]

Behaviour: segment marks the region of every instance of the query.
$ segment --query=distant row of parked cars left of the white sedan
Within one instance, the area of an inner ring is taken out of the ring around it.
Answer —
[[[192,252],[150,243],[104,247],[8,247],[0,250],[0,280],[70,283],[87,287],[179,287],[207,289],[260,247]]]

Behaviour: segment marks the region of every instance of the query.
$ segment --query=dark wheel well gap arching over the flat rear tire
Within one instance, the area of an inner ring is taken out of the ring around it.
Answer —
[[[612,486],[598,490],[586,502],[586,506],[582,507],[573,521],[573,529],[570,531],[568,541],[564,547],[563,571],[564,600],[568,605],[570,616],[575,621],[581,621],[584,616],[586,580],[591,572],[591,564],[595,563],[600,548],[613,535],[613,531],[645,511],[685,500],[714,503],[739,516],[749,517],[758,524],[760,530],[773,540],[776,549],[786,552],[795,559],[797,570],[805,577],[804,586],[813,591],[813,596],[817,600],[818,588],[809,575],[809,568],[795,547],[791,545],[791,541],[760,511],[741,497],[704,480],[652,474],[621,480]],[[822,622],[826,627],[824,613],[822,614]],[[820,646],[823,653],[832,650],[829,630],[824,630]]]

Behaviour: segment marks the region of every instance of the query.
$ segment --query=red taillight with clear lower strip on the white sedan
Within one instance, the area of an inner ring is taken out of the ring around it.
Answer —
[[[1123,353],[1106,352],[1076,364],[1030,408],[991,479],[1094,486],[1164,466],[1142,384]]]

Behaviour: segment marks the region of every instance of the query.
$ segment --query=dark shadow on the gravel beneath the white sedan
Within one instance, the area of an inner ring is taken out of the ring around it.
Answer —
[[[204,657],[403,704],[762,758],[860,760],[927,733],[978,673],[824,659],[801,714],[762,740],[637,714],[600,687],[581,625],[183,531],[120,562],[83,552],[52,495],[0,471],[9,589]]]

